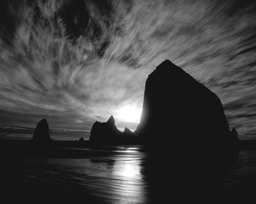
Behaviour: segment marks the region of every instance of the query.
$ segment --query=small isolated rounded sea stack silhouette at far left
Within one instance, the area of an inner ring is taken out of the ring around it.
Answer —
[[[40,143],[50,141],[49,125],[45,118],[37,123],[36,129],[33,134],[33,141]]]

